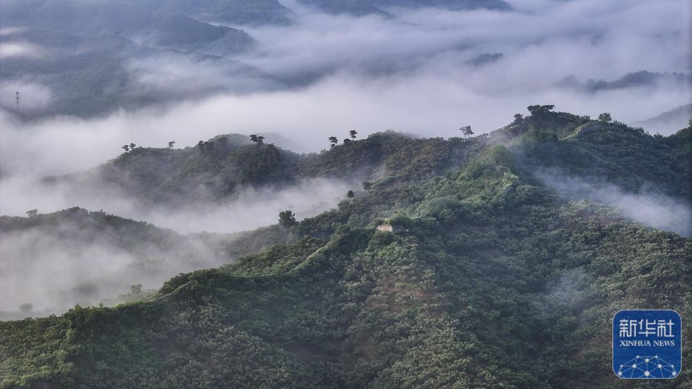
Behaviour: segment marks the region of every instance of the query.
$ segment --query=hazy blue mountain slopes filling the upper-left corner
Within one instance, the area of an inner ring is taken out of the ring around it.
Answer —
[[[45,104],[27,104],[36,97],[24,94],[25,103],[19,110],[8,104],[6,94],[3,108],[19,117],[93,117],[228,88],[242,92],[242,84],[275,82],[252,66],[233,61],[255,47],[255,39],[247,32],[199,21],[187,15],[198,8],[185,8],[183,2],[178,5],[165,1],[1,0],[0,44],[24,51],[3,57],[0,85],[24,93],[32,90],[25,83],[35,82],[51,93],[44,98]],[[147,73],[140,64],[147,61],[180,66],[204,62],[224,77],[215,82],[193,80],[189,84],[194,88],[173,91],[165,81],[152,85],[140,79]],[[229,85],[234,79],[243,80],[235,83],[237,88]]]

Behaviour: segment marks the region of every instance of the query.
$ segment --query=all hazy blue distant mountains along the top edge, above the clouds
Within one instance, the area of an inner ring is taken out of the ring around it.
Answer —
[[[503,1],[314,1],[325,12],[364,14],[382,7],[437,6],[449,9],[505,9]],[[276,0],[0,0],[0,44],[15,52],[3,55],[0,87],[19,91],[0,96],[2,108],[19,118],[48,115],[94,117],[120,108],[138,108],[203,97],[210,93],[245,93],[301,84],[276,79],[233,59],[257,42],[244,30],[219,26],[293,23],[293,12]],[[496,57],[480,57],[481,62]],[[476,63],[474,62],[474,63]],[[198,68],[185,91],[176,89],[163,64]],[[147,67],[148,66],[148,67]],[[210,79],[206,73],[219,73]],[[309,79],[316,79],[308,77]]]

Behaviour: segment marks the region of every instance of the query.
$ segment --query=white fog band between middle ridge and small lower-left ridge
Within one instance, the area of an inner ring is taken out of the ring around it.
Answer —
[[[123,193],[105,189],[98,196],[98,188],[75,191],[72,185],[8,178],[0,188],[0,196],[5,199],[0,204],[1,214],[23,216],[30,209],[48,213],[83,207],[183,233],[233,233],[274,225],[279,212],[285,209],[291,209],[298,220],[316,216],[336,207],[346,192],[358,189],[360,183],[314,178],[280,189],[248,187],[235,193],[232,199],[217,202],[190,199],[187,205],[175,207],[145,205]]]

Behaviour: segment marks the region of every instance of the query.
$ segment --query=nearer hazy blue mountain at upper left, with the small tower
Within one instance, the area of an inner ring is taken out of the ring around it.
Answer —
[[[73,35],[65,30],[47,28],[21,28],[0,37],[0,44],[12,41],[35,48],[35,53],[3,58],[0,68],[0,84],[3,88],[17,88],[22,93],[23,102],[36,98],[26,90],[24,82],[37,80],[51,91],[51,95],[46,97],[47,104],[24,103],[19,110],[14,109],[14,104],[8,104],[9,95],[3,95],[5,108],[19,117],[53,114],[92,117],[119,108],[138,108],[226,90],[232,77],[242,78],[246,83],[252,80],[266,84],[274,82],[260,70],[239,61],[173,48],[186,46],[181,42],[169,41],[170,48],[157,48],[137,44],[119,35]],[[252,46],[253,39],[243,32],[239,39],[217,39],[201,44],[200,48],[217,47],[216,44],[224,46],[221,52],[235,52]],[[177,61],[191,66],[216,65],[224,69],[222,73],[227,78],[218,79],[213,84],[198,83],[196,88],[176,92],[165,84],[147,85],[140,79],[140,75],[147,72],[145,68],[140,69],[138,64],[146,64],[147,61]]]

